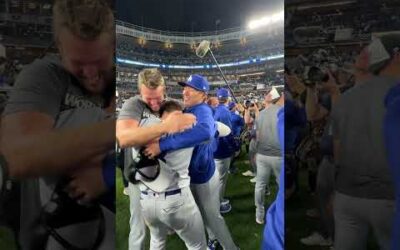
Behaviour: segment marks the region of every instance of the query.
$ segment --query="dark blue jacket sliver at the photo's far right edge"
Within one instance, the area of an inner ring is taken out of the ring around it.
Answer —
[[[385,99],[385,143],[395,185],[396,212],[393,220],[392,249],[400,249],[400,84]]]

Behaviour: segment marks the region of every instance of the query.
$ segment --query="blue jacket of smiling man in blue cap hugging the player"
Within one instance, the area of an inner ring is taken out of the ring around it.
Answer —
[[[194,147],[189,165],[190,180],[194,184],[206,183],[215,171],[213,140],[217,130],[212,110],[207,104],[201,103],[187,108],[185,113],[192,113],[196,116],[196,125],[182,133],[161,138],[160,150],[168,152]]]

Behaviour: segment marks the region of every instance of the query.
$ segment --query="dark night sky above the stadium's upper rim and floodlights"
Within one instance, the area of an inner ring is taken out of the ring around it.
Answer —
[[[117,18],[168,31],[215,31],[283,10],[283,0],[117,0]]]

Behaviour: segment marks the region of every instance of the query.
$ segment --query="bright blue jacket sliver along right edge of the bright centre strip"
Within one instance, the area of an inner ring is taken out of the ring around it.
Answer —
[[[285,111],[281,108],[278,111],[278,133],[281,148],[284,149],[285,142]],[[282,150],[282,157],[284,157]],[[285,158],[283,158],[285,159]],[[280,173],[280,184],[276,200],[268,208],[266,215],[266,225],[264,228],[264,237],[262,242],[263,250],[283,250],[284,249],[284,232],[285,232],[285,163],[282,163]]]

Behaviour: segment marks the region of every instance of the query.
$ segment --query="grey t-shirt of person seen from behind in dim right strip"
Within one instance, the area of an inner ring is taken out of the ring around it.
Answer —
[[[336,190],[368,199],[394,199],[383,137],[384,99],[398,81],[373,77],[340,96],[332,109],[340,141]]]

